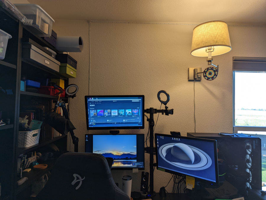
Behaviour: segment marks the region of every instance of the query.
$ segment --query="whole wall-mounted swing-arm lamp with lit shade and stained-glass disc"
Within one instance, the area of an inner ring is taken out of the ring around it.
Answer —
[[[208,57],[208,65],[204,71],[201,68],[189,68],[188,80],[201,80],[200,74],[208,80],[214,80],[218,75],[218,65],[212,63],[212,56],[218,56],[231,51],[228,26],[223,21],[211,21],[197,25],[193,30],[191,55]]]

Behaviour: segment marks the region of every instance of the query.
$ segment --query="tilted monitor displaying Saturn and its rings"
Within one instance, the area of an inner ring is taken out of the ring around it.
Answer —
[[[216,140],[155,134],[155,143],[158,170],[219,185]]]

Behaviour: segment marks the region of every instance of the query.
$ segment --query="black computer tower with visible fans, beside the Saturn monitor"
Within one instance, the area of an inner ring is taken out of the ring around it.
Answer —
[[[188,137],[217,141],[219,181],[228,181],[243,196],[249,189],[262,189],[261,139],[245,134],[233,137],[218,133],[187,133]]]

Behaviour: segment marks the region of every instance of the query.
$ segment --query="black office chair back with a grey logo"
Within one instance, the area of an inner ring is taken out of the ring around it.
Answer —
[[[113,181],[109,159],[94,153],[61,155],[38,200],[130,200]],[[109,167],[110,166],[110,167]]]

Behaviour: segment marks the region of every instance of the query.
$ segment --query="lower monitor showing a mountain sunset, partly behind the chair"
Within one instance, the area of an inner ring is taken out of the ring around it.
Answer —
[[[85,152],[113,158],[112,170],[144,170],[144,134],[85,135]]]

